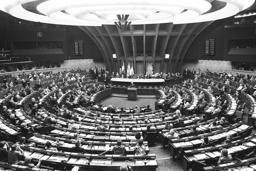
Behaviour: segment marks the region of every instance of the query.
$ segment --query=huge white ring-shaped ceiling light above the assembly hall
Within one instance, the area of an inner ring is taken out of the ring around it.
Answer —
[[[215,10],[208,0],[1,0],[0,10],[24,20],[63,25],[114,24],[117,14],[130,15],[132,24],[183,24],[230,17],[255,0],[220,1],[225,7]],[[23,8],[26,3],[34,4],[38,13]]]

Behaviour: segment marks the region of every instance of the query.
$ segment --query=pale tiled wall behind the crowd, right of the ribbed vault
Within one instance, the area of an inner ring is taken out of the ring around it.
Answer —
[[[232,61],[221,61],[221,60],[184,60],[180,72],[183,72],[183,69],[188,67],[189,70],[197,70],[200,68],[202,71],[209,69],[211,72],[231,72],[232,70]]]

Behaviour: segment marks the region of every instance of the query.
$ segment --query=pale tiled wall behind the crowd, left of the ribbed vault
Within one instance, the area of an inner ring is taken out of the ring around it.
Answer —
[[[80,67],[82,70],[86,69],[86,71],[89,71],[90,67],[95,66],[95,64],[100,65],[100,67],[105,66],[104,60],[99,59],[74,59],[74,60],[64,60],[63,64],[61,63],[61,67],[64,68],[64,70],[67,68],[67,70],[77,69]]]

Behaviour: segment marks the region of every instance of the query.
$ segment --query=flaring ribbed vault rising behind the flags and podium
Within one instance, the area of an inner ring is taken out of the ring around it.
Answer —
[[[160,66],[167,66],[159,71],[171,73],[180,70],[190,44],[212,22],[130,25],[124,31],[115,25],[79,27],[97,44],[110,72],[119,70],[121,60],[126,63],[128,60],[134,61],[135,72],[136,61],[143,62],[146,69],[146,61],[152,60],[153,68],[156,62],[160,62]],[[116,54],[117,58],[113,58],[112,54]],[[170,58],[166,59],[165,54],[170,54]]]

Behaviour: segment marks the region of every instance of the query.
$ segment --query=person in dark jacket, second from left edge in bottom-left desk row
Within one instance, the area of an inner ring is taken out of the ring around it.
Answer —
[[[8,164],[17,164],[20,158],[24,156],[24,151],[17,145],[12,145],[11,150],[8,152]]]

